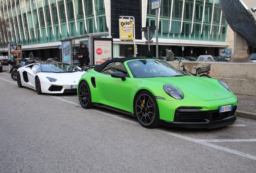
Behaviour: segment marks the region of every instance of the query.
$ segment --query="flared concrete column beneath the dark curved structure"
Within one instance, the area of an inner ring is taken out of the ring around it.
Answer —
[[[228,62],[252,62],[246,50],[247,41],[237,31],[234,32],[234,53]]]

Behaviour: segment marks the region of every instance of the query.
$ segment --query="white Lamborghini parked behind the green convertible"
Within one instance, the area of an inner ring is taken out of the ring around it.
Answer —
[[[20,88],[36,90],[37,94],[76,92],[78,80],[84,73],[63,62],[37,62],[18,69],[17,83]]]

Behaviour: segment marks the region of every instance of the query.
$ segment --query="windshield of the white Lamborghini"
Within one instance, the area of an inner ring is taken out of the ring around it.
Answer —
[[[41,64],[42,72],[77,72],[79,71],[76,66],[72,66],[67,63],[49,63],[49,64]]]

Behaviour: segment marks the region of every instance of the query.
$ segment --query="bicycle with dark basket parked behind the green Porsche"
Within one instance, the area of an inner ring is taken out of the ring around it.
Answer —
[[[180,70],[182,70],[182,72],[184,72],[185,75],[190,76],[190,74],[192,74],[193,76],[211,78],[211,76],[208,75],[210,74],[209,71],[211,70],[211,64],[203,65],[202,67],[193,67],[194,69],[196,69],[196,73],[192,73],[191,71],[185,68],[184,64],[182,64],[182,61],[180,61],[179,63],[181,64],[181,66],[178,66],[178,67],[180,68]],[[206,73],[206,74],[202,74],[202,73]]]

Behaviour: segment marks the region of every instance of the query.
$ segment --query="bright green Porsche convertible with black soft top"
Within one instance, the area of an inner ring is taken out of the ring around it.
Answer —
[[[82,75],[77,94],[85,109],[116,110],[136,117],[146,128],[213,129],[236,120],[237,97],[224,82],[185,76],[154,58],[107,60]]]

